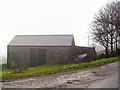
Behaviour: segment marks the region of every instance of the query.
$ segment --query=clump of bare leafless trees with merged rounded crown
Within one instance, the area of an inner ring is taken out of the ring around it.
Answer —
[[[120,2],[116,1],[107,4],[95,15],[92,22],[92,34],[94,41],[104,46],[107,54],[109,45],[111,52],[114,51],[113,46],[117,49],[118,33],[120,33]]]

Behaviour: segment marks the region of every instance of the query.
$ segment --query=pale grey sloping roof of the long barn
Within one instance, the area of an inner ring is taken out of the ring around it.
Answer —
[[[71,46],[73,35],[16,35],[9,46]]]

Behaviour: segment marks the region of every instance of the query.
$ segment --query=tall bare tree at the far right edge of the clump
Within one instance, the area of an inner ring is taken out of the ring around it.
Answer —
[[[118,31],[120,29],[120,2],[112,2],[106,5],[105,13],[107,17],[103,20],[104,23],[109,24],[109,35],[111,52],[113,52],[113,45],[116,46],[118,43]]]

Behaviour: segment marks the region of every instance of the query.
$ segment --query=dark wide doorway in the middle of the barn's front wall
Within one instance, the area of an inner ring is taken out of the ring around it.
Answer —
[[[45,64],[47,58],[46,49],[31,48],[30,49],[30,66],[38,66]]]

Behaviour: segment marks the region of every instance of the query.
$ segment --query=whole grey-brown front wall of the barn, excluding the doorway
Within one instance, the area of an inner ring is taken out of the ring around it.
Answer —
[[[45,64],[66,64],[73,62],[72,47],[27,47],[27,46],[9,46],[8,47],[8,67],[29,67],[31,62],[31,49],[45,49],[46,62]],[[36,51],[37,54],[37,51]],[[36,55],[37,56],[37,55]],[[38,61],[39,62],[39,61]],[[33,66],[37,66],[34,64]]]

